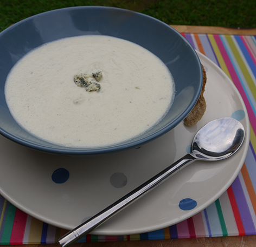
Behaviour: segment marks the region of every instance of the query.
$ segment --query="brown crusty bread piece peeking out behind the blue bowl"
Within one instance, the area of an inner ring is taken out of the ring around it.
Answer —
[[[203,116],[204,112],[206,111],[206,100],[203,97],[204,88],[206,86],[207,76],[206,71],[204,70],[204,67],[202,65],[203,69],[203,86],[202,91],[199,96],[199,99],[196,102],[196,105],[192,109],[192,111],[187,115],[187,117],[184,119],[184,125],[192,126],[195,125]]]

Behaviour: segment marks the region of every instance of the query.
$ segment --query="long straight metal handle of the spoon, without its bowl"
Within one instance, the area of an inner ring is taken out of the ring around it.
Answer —
[[[157,175],[146,181],[144,184],[135,188],[135,190],[126,194],[124,197],[120,198],[103,211],[95,214],[95,216],[89,218],[88,220],[86,220],[86,222],[66,233],[66,235],[58,239],[59,244],[62,247],[66,247],[75,243],[77,240],[84,237],[89,232],[98,227],[100,224],[105,222],[105,220],[109,219],[111,216],[124,209],[124,207],[133,203],[138,198],[144,196],[144,194],[151,191],[157,185],[161,184],[167,178],[171,177],[171,175],[174,175],[185,166],[193,163],[193,161],[195,160],[196,159],[191,154],[186,154],[184,157],[165,168],[162,172],[159,172]]]

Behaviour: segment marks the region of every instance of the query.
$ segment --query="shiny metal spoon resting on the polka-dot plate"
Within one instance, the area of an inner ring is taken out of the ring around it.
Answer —
[[[117,200],[105,210],[89,218],[72,231],[69,231],[58,240],[59,244],[62,247],[66,247],[76,242],[101,223],[105,222],[105,220],[195,160],[215,161],[228,158],[239,149],[244,138],[244,126],[233,118],[220,118],[209,122],[195,135],[191,153],[186,154],[183,158],[165,168],[162,172],[155,175],[155,177],[126,194],[126,196]]]

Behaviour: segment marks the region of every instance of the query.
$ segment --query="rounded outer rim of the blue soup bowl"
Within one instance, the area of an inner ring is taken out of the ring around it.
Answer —
[[[58,154],[58,155],[68,155],[68,156],[70,156],[70,155],[74,155],[74,156],[98,155],[98,154],[107,154],[107,153],[120,152],[120,151],[124,151],[124,150],[129,150],[131,148],[138,148],[138,147],[148,143],[149,141],[152,141],[152,140],[155,140],[155,139],[161,137],[165,133],[169,132],[172,128],[174,128],[178,124],[180,124],[182,122],[182,120],[194,108],[194,106],[195,106],[195,104],[196,104],[196,102],[199,99],[199,96],[201,94],[202,85],[203,85],[201,62],[200,62],[199,56],[197,55],[195,49],[193,48],[193,46],[191,46],[189,41],[182,34],[180,34],[180,32],[178,32],[177,30],[172,28],[170,25],[160,21],[157,18],[154,18],[154,17],[149,16],[149,15],[145,15],[145,14],[140,13],[140,12],[136,12],[136,11],[132,11],[132,10],[128,10],[128,9],[116,8],[116,7],[109,7],[109,6],[73,6],[73,7],[66,7],[66,8],[49,10],[49,11],[41,12],[39,14],[30,16],[28,18],[24,18],[21,21],[10,25],[10,27],[8,27],[8,28],[4,29],[2,32],[0,32],[0,39],[1,39],[1,36],[5,34],[5,32],[8,32],[11,29],[16,28],[18,25],[22,25],[23,22],[27,22],[30,19],[34,19],[34,18],[37,18],[39,16],[48,15],[49,13],[69,11],[69,10],[74,10],[74,9],[108,9],[108,10],[109,9],[114,9],[114,10],[123,11],[123,12],[133,12],[135,15],[143,16],[144,18],[149,18],[149,19],[152,19],[155,22],[158,22],[162,25],[165,25],[166,27],[171,29],[173,32],[175,32],[176,35],[180,36],[180,38],[183,40],[183,42],[185,42],[187,44],[187,46],[190,47],[193,55],[196,57],[197,63],[199,63],[199,65],[200,65],[199,66],[199,68],[201,69],[201,73],[200,73],[201,78],[200,78],[200,82],[199,82],[200,86],[199,86],[199,89],[197,90],[197,92],[195,92],[195,97],[194,97],[193,101],[191,101],[191,103],[187,107],[187,109],[180,116],[178,116],[178,118],[175,119],[171,123],[171,125],[169,124],[168,126],[165,126],[164,128],[162,128],[158,132],[153,133],[153,134],[149,135],[148,137],[144,137],[140,140],[132,141],[132,142],[129,142],[129,143],[126,143],[126,144],[117,144],[116,146],[113,145],[113,146],[109,146],[109,147],[94,147],[94,148],[93,147],[92,148],[79,148],[79,147],[68,147],[67,148],[65,146],[58,146],[58,148],[57,147],[55,148],[55,147],[43,146],[43,145],[40,145],[40,144],[34,144],[33,142],[23,140],[19,137],[16,137],[15,135],[10,134],[9,132],[2,129],[1,127],[0,127],[0,134],[3,135],[6,138],[18,143],[18,144],[21,144],[21,145],[25,146],[25,147],[31,148],[33,150],[45,152],[45,153],[52,153],[52,154]]]

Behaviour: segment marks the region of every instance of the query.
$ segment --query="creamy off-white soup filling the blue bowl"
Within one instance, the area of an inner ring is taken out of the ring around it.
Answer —
[[[172,76],[157,56],[101,35],[43,44],[18,61],[5,83],[8,107],[21,127],[71,147],[136,137],[163,118],[174,94]]]

